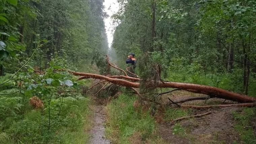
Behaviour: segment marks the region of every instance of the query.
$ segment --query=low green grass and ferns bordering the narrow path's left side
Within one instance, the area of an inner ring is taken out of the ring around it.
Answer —
[[[90,135],[86,131],[92,124],[89,120],[91,111],[87,108],[90,102],[91,100],[87,98],[66,100],[62,109],[51,110],[50,127],[47,109],[27,109],[24,115],[18,115],[18,119],[6,118],[5,121],[0,121],[0,126],[5,127],[4,131],[1,131],[3,128],[0,129],[0,143],[84,144],[89,142]]]

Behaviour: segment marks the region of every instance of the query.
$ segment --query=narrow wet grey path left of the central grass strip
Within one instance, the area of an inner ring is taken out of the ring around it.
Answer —
[[[104,114],[102,114],[104,106],[95,106],[94,111],[94,125],[91,129],[92,140],[90,144],[111,144],[109,140],[105,138],[105,127],[104,127]]]

